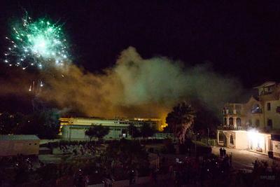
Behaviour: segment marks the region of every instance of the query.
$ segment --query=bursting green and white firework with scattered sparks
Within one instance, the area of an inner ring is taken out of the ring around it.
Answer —
[[[20,24],[13,26],[10,37],[6,37],[10,46],[4,62],[9,66],[47,66],[61,67],[69,62],[69,46],[66,43],[62,25],[50,20],[38,19],[32,22],[30,17],[22,18]]]

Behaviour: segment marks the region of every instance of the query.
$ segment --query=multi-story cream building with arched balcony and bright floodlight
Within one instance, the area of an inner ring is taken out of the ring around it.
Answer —
[[[266,82],[255,89],[258,95],[248,102],[225,104],[218,144],[280,156],[280,84]]]

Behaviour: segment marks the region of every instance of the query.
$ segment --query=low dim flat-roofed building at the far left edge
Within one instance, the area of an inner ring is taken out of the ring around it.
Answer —
[[[0,156],[38,155],[39,143],[36,135],[0,135]]]

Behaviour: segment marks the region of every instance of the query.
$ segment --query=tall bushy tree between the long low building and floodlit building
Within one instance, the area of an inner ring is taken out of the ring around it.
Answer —
[[[193,108],[185,102],[174,106],[173,110],[168,113],[166,123],[174,135],[179,138],[181,144],[185,141],[187,130],[193,125],[195,112]]]

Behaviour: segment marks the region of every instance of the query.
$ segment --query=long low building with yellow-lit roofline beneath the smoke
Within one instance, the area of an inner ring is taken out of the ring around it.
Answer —
[[[140,128],[144,123],[158,128],[161,125],[161,120],[157,118],[60,118],[62,138],[67,140],[88,139],[85,135],[85,131],[92,127],[92,125],[109,127],[109,134],[107,134],[104,139],[131,138],[131,135],[128,133],[129,125],[133,124],[135,127]]]

